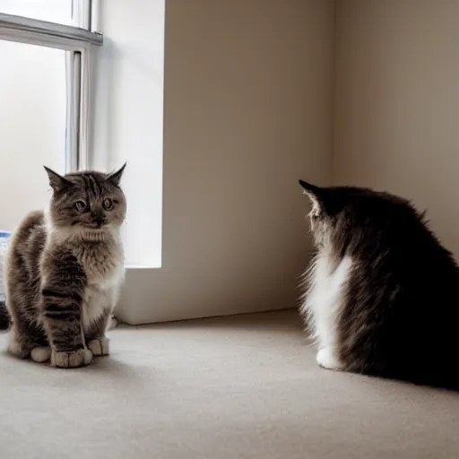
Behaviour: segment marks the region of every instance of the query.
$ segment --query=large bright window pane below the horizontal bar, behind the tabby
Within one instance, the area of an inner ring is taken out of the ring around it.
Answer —
[[[0,40],[0,230],[49,200],[65,169],[65,51]]]

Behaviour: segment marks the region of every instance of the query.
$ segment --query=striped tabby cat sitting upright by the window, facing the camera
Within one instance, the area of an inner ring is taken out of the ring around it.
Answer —
[[[59,368],[108,355],[105,335],[124,278],[126,197],[112,174],[48,173],[47,212],[31,212],[5,258],[8,350]]]

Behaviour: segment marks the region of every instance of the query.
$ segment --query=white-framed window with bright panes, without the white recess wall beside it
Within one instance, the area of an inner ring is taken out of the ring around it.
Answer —
[[[43,165],[88,164],[93,48],[91,0],[0,0],[0,228],[48,201]],[[11,192],[14,190],[14,193]]]

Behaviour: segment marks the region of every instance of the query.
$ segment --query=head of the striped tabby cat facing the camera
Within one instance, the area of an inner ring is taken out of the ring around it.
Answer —
[[[119,227],[126,217],[120,187],[125,165],[111,174],[82,171],[60,176],[45,167],[53,195],[49,218],[56,228],[101,231]]]

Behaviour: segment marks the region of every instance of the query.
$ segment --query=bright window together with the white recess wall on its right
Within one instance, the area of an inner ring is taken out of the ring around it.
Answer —
[[[0,0],[0,230],[48,202],[43,164],[127,160],[126,265],[161,266],[164,22],[164,0]]]

